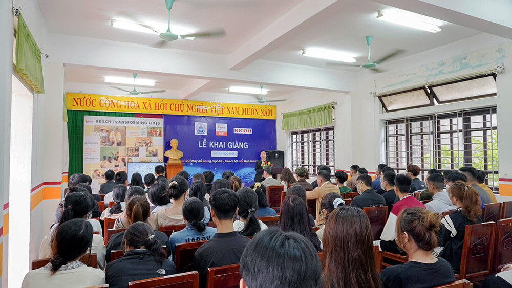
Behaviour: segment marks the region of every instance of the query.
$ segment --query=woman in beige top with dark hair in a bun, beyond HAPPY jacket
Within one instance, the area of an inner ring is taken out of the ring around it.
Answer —
[[[161,209],[158,211],[158,227],[185,224],[183,221],[183,215],[181,214],[181,209],[188,195],[188,181],[182,176],[174,176],[167,181],[166,189],[168,197],[173,200],[173,204],[167,209]]]

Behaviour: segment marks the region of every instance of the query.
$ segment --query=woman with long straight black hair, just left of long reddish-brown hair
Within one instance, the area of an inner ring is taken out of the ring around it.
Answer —
[[[297,196],[286,196],[281,205],[279,228],[284,232],[297,232],[313,244],[316,252],[322,251],[322,242],[311,229],[304,201]]]

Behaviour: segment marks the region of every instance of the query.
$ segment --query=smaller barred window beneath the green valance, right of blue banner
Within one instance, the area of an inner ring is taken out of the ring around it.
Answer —
[[[319,165],[327,165],[334,171],[334,127],[292,132],[292,171],[303,166],[310,175],[316,175]]]

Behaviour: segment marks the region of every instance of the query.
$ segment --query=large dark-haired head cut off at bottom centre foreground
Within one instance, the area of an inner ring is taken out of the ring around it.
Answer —
[[[241,288],[315,288],[321,286],[321,273],[311,243],[302,235],[277,228],[254,237],[240,259]]]

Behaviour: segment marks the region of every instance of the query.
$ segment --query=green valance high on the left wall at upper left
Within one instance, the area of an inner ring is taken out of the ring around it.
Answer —
[[[32,37],[22,14],[18,17],[16,31],[16,72],[36,93],[45,93],[45,82],[42,79],[41,51]]]

